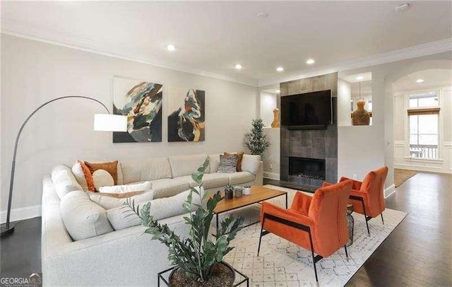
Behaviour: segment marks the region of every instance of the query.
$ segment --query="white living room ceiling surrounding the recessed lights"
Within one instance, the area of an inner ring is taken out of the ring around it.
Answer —
[[[1,30],[257,84],[452,37],[452,2],[400,3],[2,1]]]

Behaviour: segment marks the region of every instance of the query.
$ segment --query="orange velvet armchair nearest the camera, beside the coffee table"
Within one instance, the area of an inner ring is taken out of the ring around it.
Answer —
[[[314,272],[316,262],[345,247],[348,241],[347,202],[352,181],[321,187],[314,197],[297,192],[290,209],[283,209],[269,202],[261,207],[261,236],[257,254],[261,250],[263,235],[273,233],[296,245],[311,250]],[[314,253],[317,255],[314,257]],[[347,255],[347,247],[345,247]]]

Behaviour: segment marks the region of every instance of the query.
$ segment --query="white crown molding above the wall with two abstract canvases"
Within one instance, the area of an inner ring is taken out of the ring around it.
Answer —
[[[138,58],[134,58],[134,57],[127,57],[127,56],[122,56],[121,54],[115,54],[112,52],[104,52],[100,49],[93,49],[93,48],[89,48],[89,47],[81,47],[78,45],[71,45],[71,44],[67,44],[67,43],[63,43],[63,42],[57,42],[57,41],[53,41],[53,40],[47,40],[41,37],[35,37],[35,36],[31,36],[31,35],[25,35],[22,33],[16,33],[10,30],[0,30],[1,34],[4,35],[10,35],[10,36],[14,36],[14,37],[20,37],[23,39],[27,39],[27,40],[33,40],[33,41],[37,41],[37,42],[43,42],[46,44],[51,44],[51,45],[57,45],[60,47],[66,47],[69,49],[76,49],[78,51],[83,51],[83,52],[88,52],[88,53],[93,53],[93,54],[100,54],[102,56],[106,56],[106,57],[112,57],[112,58],[116,58],[116,59],[122,59],[122,60],[126,60],[126,61],[135,61],[137,63],[141,63],[141,64],[148,64],[150,66],[157,66],[160,68],[164,68],[164,69],[170,69],[170,70],[174,70],[174,71],[180,71],[180,72],[184,72],[184,73],[189,73],[189,74],[195,74],[198,76],[207,76],[210,78],[217,78],[219,80],[222,81],[229,81],[232,83],[240,83],[242,85],[246,85],[246,86],[253,86],[253,87],[257,87],[258,86],[258,80],[257,79],[253,79],[253,78],[235,78],[232,76],[226,76],[226,75],[222,75],[222,74],[217,74],[217,73],[213,73],[210,71],[203,71],[203,70],[199,70],[199,69],[189,69],[189,68],[184,68],[184,67],[180,67],[180,66],[174,66],[171,64],[161,64],[161,63],[155,63],[153,61],[148,61],[145,59],[138,59]]]

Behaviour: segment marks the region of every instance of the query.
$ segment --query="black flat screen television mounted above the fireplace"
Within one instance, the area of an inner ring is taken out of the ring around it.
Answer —
[[[333,124],[331,90],[281,97],[281,124],[323,126]]]

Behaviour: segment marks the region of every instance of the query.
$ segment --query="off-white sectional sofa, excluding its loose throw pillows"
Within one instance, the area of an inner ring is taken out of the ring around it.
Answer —
[[[151,181],[155,199],[171,197],[195,187],[191,173],[207,155],[121,160],[122,183]],[[204,175],[206,192],[231,185],[262,185],[262,162],[258,156],[244,155],[242,172],[218,173],[220,155],[210,155]],[[71,169],[59,165],[52,173]],[[68,173],[69,174],[69,173]],[[54,180],[52,180],[54,178]],[[42,194],[42,273],[44,286],[156,286],[157,272],[169,268],[167,248],[141,225],[74,241],[60,211],[67,190],[80,187],[70,174],[65,180],[47,175]],[[188,226],[182,215],[163,218],[176,233],[185,237]]]

